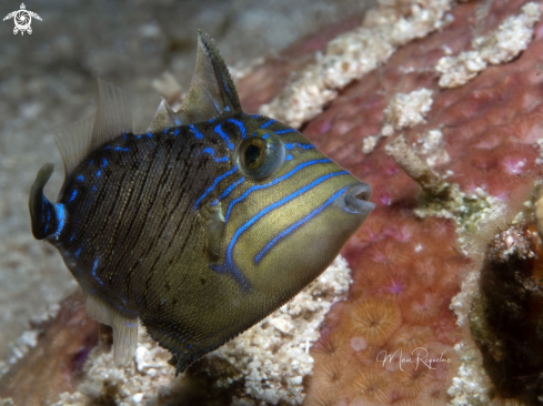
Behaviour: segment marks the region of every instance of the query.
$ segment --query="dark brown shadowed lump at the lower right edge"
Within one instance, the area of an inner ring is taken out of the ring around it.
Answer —
[[[497,395],[527,405],[543,396],[542,257],[533,216],[497,234],[471,314],[471,331]]]

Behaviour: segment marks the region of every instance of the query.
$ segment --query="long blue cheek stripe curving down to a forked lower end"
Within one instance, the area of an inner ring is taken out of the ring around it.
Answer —
[[[326,175],[323,175],[323,176],[314,180],[310,184],[306,184],[302,189],[295,191],[294,193],[291,193],[288,196],[284,196],[283,199],[281,199],[281,200],[276,201],[275,203],[272,203],[269,206],[267,206],[265,209],[261,210],[258,214],[252,216],[245,224],[243,224],[242,226],[240,226],[235,231],[235,233],[232,236],[232,240],[230,240],[230,244],[228,245],[228,248],[227,248],[225,262],[223,264],[220,264],[220,265],[210,265],[210,267],[220,274],[229,274],[230,276],[232,276],[234,278],[234,281],[237,283],[240,284],[241,288],[247,292],[250,288],[250,284],[247,281],[247,278],[243,276],[243,273],[235,265],[233,256],[232,256],[232,251],[233,251],[235,244],[238,243],[238,238],[241,236],[241,234],[243,234],[245,231],[248,231],[254,223],[257,223],[260,219],[262,219],[264,215],[267,215],[271,211],[273,211],[278,207],[281,207],[283,204],[299,197],[301,194],[303,194],[303,193],[308,192],[309,190],[315,187],[316,185],[326,181],[328,179],[333,177],[333,176],[344,175],[344,174],[349,174],[349,172],[346,172],[346,171],[332,172],[332,173],[329,173]]]

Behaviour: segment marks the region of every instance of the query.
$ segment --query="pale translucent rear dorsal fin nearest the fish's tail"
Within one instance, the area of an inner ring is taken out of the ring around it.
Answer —
[[[132,132],[132,115],[119,88],[98,79],[98,110],[54,135],[68,175],[87,154],[105,142]]]

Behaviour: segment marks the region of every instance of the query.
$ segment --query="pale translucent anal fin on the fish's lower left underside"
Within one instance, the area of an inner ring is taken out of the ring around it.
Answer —
[[[138,343],[138,318],[130,318],[115,311],[111,305],[84,295],[84,305],[89,316],[113,328],[113,353],[117,366],[125,365],[135,353]]]

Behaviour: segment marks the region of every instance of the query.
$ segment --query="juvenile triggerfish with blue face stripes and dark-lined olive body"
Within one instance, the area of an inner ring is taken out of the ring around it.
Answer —
[[[184,371],[292,298],[373,210],[371,189],[300,132],[247,114],[213,41],[199,33],[180,110],[162,100],[132,132],[120,89],[56,138],[58,202],[30,191],[32,233],[56,246],[89,315],[113,328],[117,365],[138,325]]]

